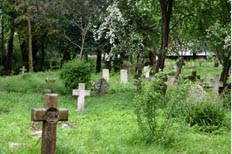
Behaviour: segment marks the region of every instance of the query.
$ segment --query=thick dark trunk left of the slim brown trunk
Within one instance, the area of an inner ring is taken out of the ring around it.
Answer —
[[[7,46],[7,60],[5,65],[5,74],[10,75],[12,73],[12,54],[13,54],[13,48],[14,48],[14,27],[11,27],[10,30],[10,38],[8,40],[8,46]]]

